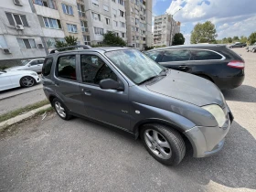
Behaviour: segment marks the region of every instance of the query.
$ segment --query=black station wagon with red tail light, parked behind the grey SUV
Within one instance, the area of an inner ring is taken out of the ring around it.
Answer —
[[[210,80],[220,90],[239,87],[244,80],[244,60],[225,45],[173,46],[144,53],[166,68]]]

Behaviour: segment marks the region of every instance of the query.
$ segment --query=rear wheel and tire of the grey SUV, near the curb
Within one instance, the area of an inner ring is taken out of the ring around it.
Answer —
[[[71,119],[72,116],[69,114],[68,108],[58,98],[53,99],[52,106],[61,119],[66,121]]]

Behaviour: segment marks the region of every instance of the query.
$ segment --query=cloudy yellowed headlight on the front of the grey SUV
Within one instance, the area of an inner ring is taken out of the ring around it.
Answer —
[[[224,123],[226,122],[226,115],[223,112],[223,110],[219,107],[219,105],[211,104],[204,106],[202,108],[214,116],[215,120],[219,124],[219,127],[222,127],[224,125]]]

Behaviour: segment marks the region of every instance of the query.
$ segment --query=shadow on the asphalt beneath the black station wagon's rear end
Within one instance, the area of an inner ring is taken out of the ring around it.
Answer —
[[[256,102],[256,88],[249,85],[222,92],[227,101]]]

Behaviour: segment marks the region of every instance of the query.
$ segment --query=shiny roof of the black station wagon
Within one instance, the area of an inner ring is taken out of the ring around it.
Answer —
[[[170,46],[164,48],[154,48],[145,52],[155,51],[155,50],[165,50],[165,49],[180,49],[180,48],[223,48],[226,44],[195,44],[195,45],[181,45],[181,46]]]

